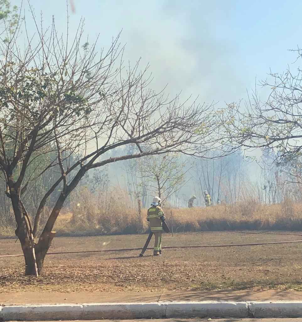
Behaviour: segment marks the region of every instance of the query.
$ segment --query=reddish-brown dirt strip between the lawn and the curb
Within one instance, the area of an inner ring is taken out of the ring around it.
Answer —
[[[134,303],[170,301],[301,301],[302,293],[294,290],[212,290],[148,292],[20,292],[0,293],[0,305]]]

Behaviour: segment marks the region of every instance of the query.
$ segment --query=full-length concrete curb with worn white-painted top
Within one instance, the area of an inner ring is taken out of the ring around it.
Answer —
[[[0,321],[302,317],[302,301],[203,301],[0,306]]]

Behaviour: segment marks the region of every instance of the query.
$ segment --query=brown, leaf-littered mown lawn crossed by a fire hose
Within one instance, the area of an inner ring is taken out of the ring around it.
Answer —
[[[276,232],[275,232],[276,233]],[[194,232],[163,235],[163,246],[237,244],[302,240],[302,236],[261,232]],[[278,233],[278,232],[277,232]],[[299,234],[299,232],[295,232]],[[58,237],[50,251],[142,247],[142,235]],[[151,240],[153,246],[154,237]],[[54,250],[55,246],[55,250]],[[19,242],[0,240],[0,255],[20,254]],[[23,276],[22,257],[0,258],[0,292],[155,291],[205,289],[302,290],[302,243],[262,246],[147,250],[47,255],[42,277]]]

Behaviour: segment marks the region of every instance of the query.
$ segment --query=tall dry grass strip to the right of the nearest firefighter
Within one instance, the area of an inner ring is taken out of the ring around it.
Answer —
[[[167,222],[171,225],[170,209]],[[174,230],[302,230],[302,204],[286,200],[282,204],[261,205],[242,202],[208,208],[172,209]]]

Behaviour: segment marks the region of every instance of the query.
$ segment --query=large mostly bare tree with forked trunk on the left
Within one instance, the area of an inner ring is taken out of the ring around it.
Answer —
[[[148,68],[140,71],[139,62],[125,68],[119,37],[98,53],[97,41],[90,45],[84,38],[83,20],[71,39],[68,24],[66,36],[60,36],[54,19],[46,29],[42,18],[41,24],[33,14],[32,19],[36,34],[27,32],[24,20],[24,48],[18,46],[17,31],[0,43],[0,168],[25,274],[41,275],[60,210],[87,171],[167,152],[202,156],[219,147],[221,124],[212,106],[181,103],[178,96],[170,99],[151,90]],[[110,156],[131,144],[138,147],[137,153]],[[50,152],[56,159],[35,176],[28,175],[34,160]],[[60,169],[59,178],[41,197],[36,212],[29,214],[23,200],[27,185],[54,166]],[[61,191],[40,230],[43,208],[59,185]]]

